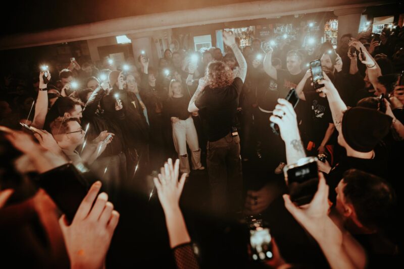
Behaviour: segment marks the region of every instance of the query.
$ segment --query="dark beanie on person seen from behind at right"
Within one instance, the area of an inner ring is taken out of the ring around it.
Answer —
[[[342,117],[342,136],[352,149],[370,152],[390,131],[392,120],[374,109],[350,108]]]

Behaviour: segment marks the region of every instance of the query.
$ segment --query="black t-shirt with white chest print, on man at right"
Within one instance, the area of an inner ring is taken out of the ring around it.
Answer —
[[[333,123],[330,105],[327,98],[323,98],[318,92],[310,89],[305,91],[306,111],[309,112],[304,128],[309,141],[320,146],[324,139],[329,123]]]

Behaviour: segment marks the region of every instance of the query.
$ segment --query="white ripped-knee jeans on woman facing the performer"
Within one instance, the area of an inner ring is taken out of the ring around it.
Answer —
[[[186,144],[192,152],[192,168],[198,169],[202,166],[200,163],[200,149],[198,144],[198,135],[196,134],[195,125],[191,116],[186,120],[179,120],[177,123],[172,123],[173,126],[173,140],[174,147],[178,153],[180,159],[180,171],[182,173],[188,173],[189,161],[186,151]]]

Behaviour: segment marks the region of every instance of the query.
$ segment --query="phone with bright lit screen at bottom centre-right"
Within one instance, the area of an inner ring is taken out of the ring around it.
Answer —
[[[250,230],[251,259],[264,261],[273,258],[272,236],[268,228],[257,227]]]

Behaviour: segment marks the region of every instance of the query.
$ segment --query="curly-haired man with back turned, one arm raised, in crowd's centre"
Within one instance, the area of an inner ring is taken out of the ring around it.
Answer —
[[[234,213],[242,206],[240,138],[234,121],[247,72],[247,63],[234,35],[224,32],[223,40],[240,65],[237,76],[233,79],[233,71],[223,61],[210,62],[188,106],[189,112],[200,110],[207,125],[211,205],[220,214]]]

